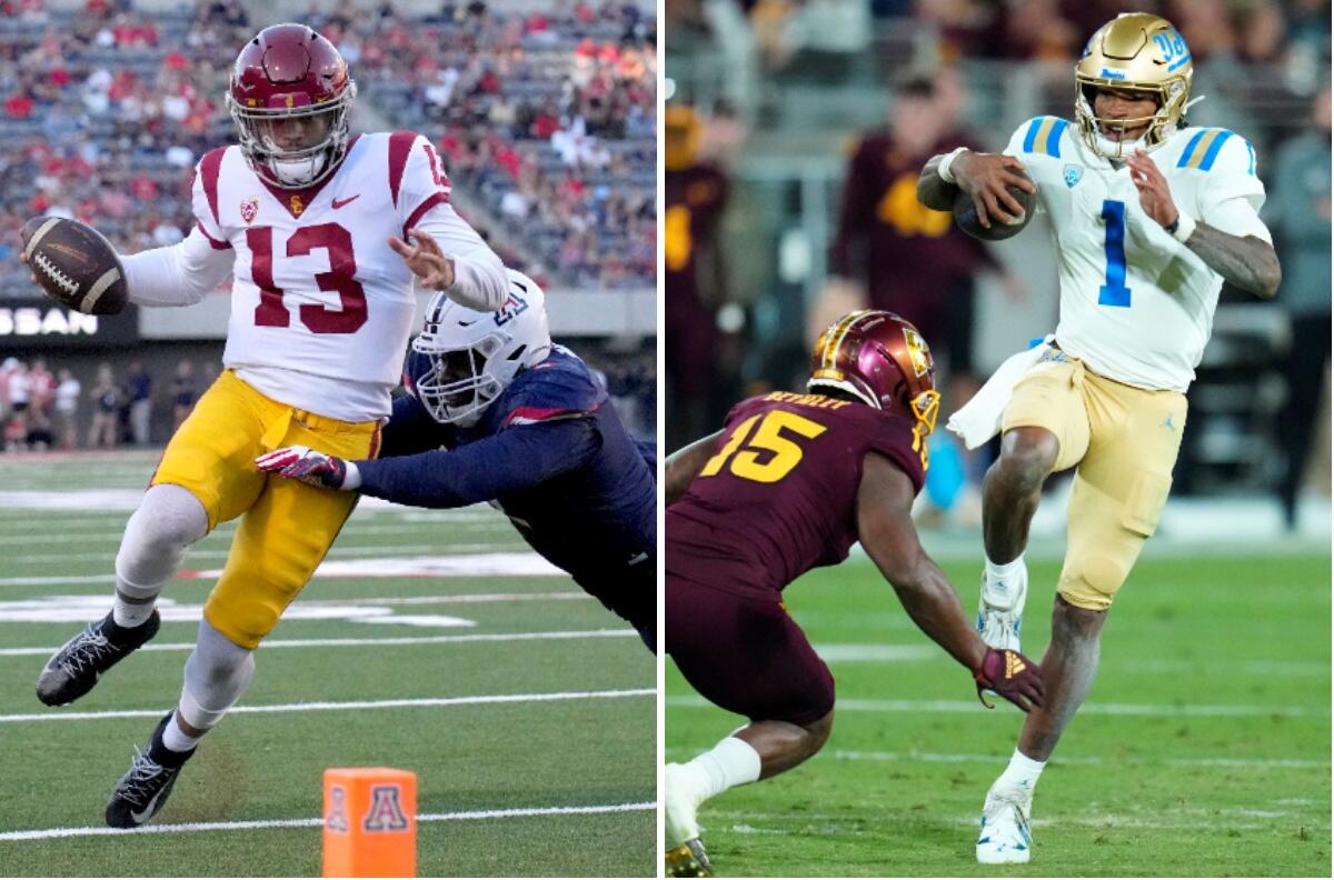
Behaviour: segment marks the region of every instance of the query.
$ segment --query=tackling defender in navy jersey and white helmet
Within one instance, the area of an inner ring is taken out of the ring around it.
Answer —
[[[264,471],[399,504],[494,501],[524,540],[639,631],[655,635],[652,449],[626,432],[574,352],[551,343],[542,289],[510,271],[499,312],[436,297],[412,340],[379,460],[291,447]]]

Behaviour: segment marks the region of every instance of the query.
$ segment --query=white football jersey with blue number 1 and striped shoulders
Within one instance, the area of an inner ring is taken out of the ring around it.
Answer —
[[[1223,279],[1139,207],[1130,169],[1097,155],[1063,119],[1039,116],[1006,155],[1038,184],[1061,263],[1057,343],[1094,372],[1185,392],[1213,328]],[[1259,219],[1255,149],[1221,128],[1185,128],[1149,153],[1177,208],[1237,236],[1271,241]]]

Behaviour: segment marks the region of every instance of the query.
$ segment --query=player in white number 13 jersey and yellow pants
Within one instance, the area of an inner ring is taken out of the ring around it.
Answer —
[[[204,605],[180,704],[107,804],[113,827],[161,809],[352,512],[355,496],[271,477],[255,456],[301,444],[375,457],[416,289],[483,311],[508,292],[499,257],[450,207],[431,143],[412,132],[352,136],[355,96],[323,36],[299,24],[261,31],[237,56],[227,96],[239,145],[196,168],[196,228],[177,245],[123,257],[140,305],[197,303],[232,276],[225,371],[129,517],[112,611],[51,659],[39,699],[72,703],[152,639],[155,600],[185,549],[219,523],[241,523]]]

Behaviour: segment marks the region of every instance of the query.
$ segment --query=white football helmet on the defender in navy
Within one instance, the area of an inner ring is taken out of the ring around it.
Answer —
[[[442,424],[476,424],[523,369],[551,353],[546,295],[527,275],[506,273],[510,295],[496,312],[459,305],[444,292],[427,305],[406,384]]]

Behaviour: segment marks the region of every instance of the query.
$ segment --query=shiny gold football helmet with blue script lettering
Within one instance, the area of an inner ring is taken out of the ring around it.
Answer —
[[[1145,149],[1161,147],[1177,131],[1190,100],[1195,67],[1190,48],[1171,21],[1147,12],[1127,12],[1098,28],[1075,64],[1075,121],[1089,148],[1121,159],[1123,144],[1102,136],[1101,125],[1135,128],[1147,123]],[[1099,88],[1150,92],[1158,111],[1139,119],[1099,119],[1094,95]]]

